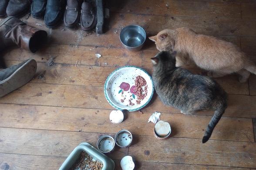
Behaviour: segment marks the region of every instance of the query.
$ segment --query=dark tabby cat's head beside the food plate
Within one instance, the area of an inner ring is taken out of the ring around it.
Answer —
[[[162,51],[151,58],[154,71],[168,71],[175,69],[175,56],[176,51],[169,53],[168,51]]]

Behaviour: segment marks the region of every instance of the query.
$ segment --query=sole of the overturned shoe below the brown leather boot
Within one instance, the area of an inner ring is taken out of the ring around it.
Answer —
[[[0,81],[0,97],[27,84],[37,71],[37,62],[33,59],[27,60],[23,66],[18,68],[10,77]]]

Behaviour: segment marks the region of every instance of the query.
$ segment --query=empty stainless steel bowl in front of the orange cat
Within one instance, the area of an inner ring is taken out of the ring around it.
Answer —
[[[128,25],[121,30],[119,37],[126,49],[138,51],[145,43],[146,32],[138,25]]]

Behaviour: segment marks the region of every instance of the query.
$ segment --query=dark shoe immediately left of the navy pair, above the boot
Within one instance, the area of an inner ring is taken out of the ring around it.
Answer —
[[[29,13],[30,3],[31,0],[10,0],[6,8],[6,13],[12,17],[23,17]]]

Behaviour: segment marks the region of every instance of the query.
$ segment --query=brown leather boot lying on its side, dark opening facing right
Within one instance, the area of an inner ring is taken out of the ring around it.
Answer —
[[[36,52],[47,40],[47,32],[31,27],[15,17],[0,21],[0,51],[9,46]]]

